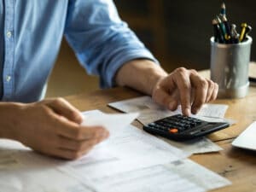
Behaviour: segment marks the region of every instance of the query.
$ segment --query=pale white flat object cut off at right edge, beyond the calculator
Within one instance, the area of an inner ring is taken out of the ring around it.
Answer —
[[[256,150],[256,121],[249,125],[247,129],[232,142],[232,145],[237,148]]]

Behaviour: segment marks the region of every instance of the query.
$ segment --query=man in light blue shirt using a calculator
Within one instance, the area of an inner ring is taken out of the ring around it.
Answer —
[[[181,104],[185,115],[217,96],[218,85],[195,70],[180,67],[167,74],[119,19],[111,0],[3,0],[0,6],[0,137],[65,159],[86,154],[108,137],[103,127],[81,126],[79,110],[67,101],[41,100],[63,35],[102,87],[130,86],[170,110]]]

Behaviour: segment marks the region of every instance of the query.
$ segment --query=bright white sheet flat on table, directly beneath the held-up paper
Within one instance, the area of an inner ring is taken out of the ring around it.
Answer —
[[[109,137],[107,141],[97,145],[84,158],[70,161],[65,167],[61,167],[61,170],[82,179],[93,179],[182,160],[189,155],[129,125],[114,137]]]

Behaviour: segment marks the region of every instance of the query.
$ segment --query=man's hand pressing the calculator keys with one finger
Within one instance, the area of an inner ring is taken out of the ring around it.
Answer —
[[[155,102],[170,110],[181,104],[183,114],[188,116],[190,112],[197,113],[205,102],[215,100],[217,94],[218,84],[183,67],[161,78],[152,91]]]

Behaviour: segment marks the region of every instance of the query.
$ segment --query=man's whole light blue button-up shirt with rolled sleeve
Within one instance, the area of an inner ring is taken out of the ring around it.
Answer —
[[[63,35],[104,88],[114,85],[126,61],[155,61],[112,0],[0,0],[0,22],[2,101],[35,102],[44,95]]]

